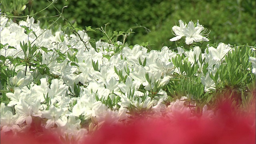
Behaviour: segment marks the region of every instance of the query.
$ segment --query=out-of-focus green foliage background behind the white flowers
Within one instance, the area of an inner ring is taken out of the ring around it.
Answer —
[[[16,1],[16,0],[2,0]],[[23,0],[24,1],[24,0]],[[52,0],[29,0],[27,8],[20,15],[33,14],[44,9]],[[255,45],[256,36],[256,5],[255,0],[58,0],[54,6],[58,10],[64,8],[64,17],[77,27],[92,26],[98,28],[106,23],[107,30],[126,31],[134,26],[136,28],[127,42],[129,45],[149,42],[150,48],[161,49],[162,46],[175,48],[175,42],[169,39],[174,37],[172,26],[178,25],[178,20],[196,22],[211,30],[209,38],[213,42],[224,42],[236,45]],[[8,11],[1,5],[2,12]],[[11,11],[11,10],[9,10]],[[17,12],[10,12],[17,15]],[[36,14],[37,20],[41,16],[55,16],[57,10],[50,6],[46,10]],[[40,18],[41,26],[46,27],[50,20],[57,17]],[[17,19],[20,20],[20,19]],[[58,21],[64,25],[64,21]],[[99,39],[103,34],[88,32],[89,36]],[[205,47],[204,42],[202,47]]]

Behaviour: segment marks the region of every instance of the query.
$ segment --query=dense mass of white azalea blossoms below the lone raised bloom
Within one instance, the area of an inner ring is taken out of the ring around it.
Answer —
[[[24,33],[24,26],[34,33]],[[50,69],[51,74],[59,77],[50,81],[47,74],[42,75],[36,70],[25,71],[25,66],[15,67],[18,74],[10,78],[13,93],[6,93],[10,102],[7,105],[1,103],[1,131],[4,132],[25,129],[32,123],[33,117],[39,117],[46,119],[46,124],[42,125],[44,128],[55,128],[64,136],[68,134],[79,138],[88,132],[81,127],[81,119],[86,121],[94,117],[98,123],[105,120],[122,122],[130,116],[127,113],[130,105],[138,109],[151,109],[156,115],[172,112],[176,104],[173,104],[172,108],[163,104],[167,98],[164,90],[158,91],[158,99],[149,97],[149,92],[168,84],[174,72],[179,72],[178,68],[174,67],[172,58],[184,53],[186,60],[194,64],[201,54],[199,47],[194,47],[189,52],[178,48],[176,53],[166,46],[161,51],[147,52],[146,48],[139,45],[132,49],[124,47],[120,52],[114,53],[116,46],[101,41],[96,42],[96,51],[88,42],[90,37],[85,32],[78,31],[86,46],[74,34],[68,36],[63,32],[56,32],[53,35],[50,30],[40,29],[39,24],[34,24],[33,18],[16,24],[1,17],[0,31],[0,41],[4,45],[0,50],[1,55],[24,58],[20,42],[30,41],[39,47],[37,52],[42,54],[42,64]],[[122,43],[119,42],[119,45]],[[217,49],[208,47],[208,52],[201,54],[202,59],[206,58],[208,63],[208,72],[201,77],[206,92],[215,87],[209,73],[216,72],[223,56],[230,49],[229,45],[220,43]],[[58,62],[58,52],[65,54],[66,59]],[[76,56],[78,66],[71,64],[68,54]],[[14,67],[7,60],[5,63],[10,68]],[[97,65],[98,70],[93,65]],[[40,85],[35,84],[38,80]],[[74,96],[76,86],[80,88],[78,96]],[[140,91],[140,86],[143,86],[146,92]],[[108,106],[107,100],[114,102],[114,106]],[[13,106],[15,114],[11,109]]]

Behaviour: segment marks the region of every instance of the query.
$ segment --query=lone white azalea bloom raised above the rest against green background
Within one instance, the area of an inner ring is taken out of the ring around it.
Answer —
[[[204,28],[202,25],[199,24],[199,20],[197,20],[196,27],[194,27],[194,23],[192,21],[184,24],[182,20],[179,20],[180,26],[173,26],[172,30],[174,31],[174,38],[171,38],[170,41],[177,41],[182,38],[182,36],[186,36],[186,44],[192,44],[195,42],[206,41],[208,42],[209,39],[203,36],[208,36],[205,34],[207,29]]]

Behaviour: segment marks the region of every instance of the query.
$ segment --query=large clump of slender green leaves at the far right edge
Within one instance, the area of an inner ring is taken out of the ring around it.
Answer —
[[[231,90],[245,91],[247,84],[255,79],[255,74],[248,71],[251,67],[249,57],[255,57],[255,52],[248,46],[237,47],[225,56],[225,63],[220,65],[215,76],[210,77],[216,83],[217,90],[230,88]]]

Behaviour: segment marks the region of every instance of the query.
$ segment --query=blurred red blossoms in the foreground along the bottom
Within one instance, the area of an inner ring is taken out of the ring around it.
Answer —
[[[86,136],[82,144],[255,144],[255,108],[252,109],[252,113],[242,114],[224,103],[213,118],[180,113],[170,120],[141,119],[126,126],[104,124]],[[54,134],[30,133],[20,138],[1,134],[1,144],[62,144]]]

